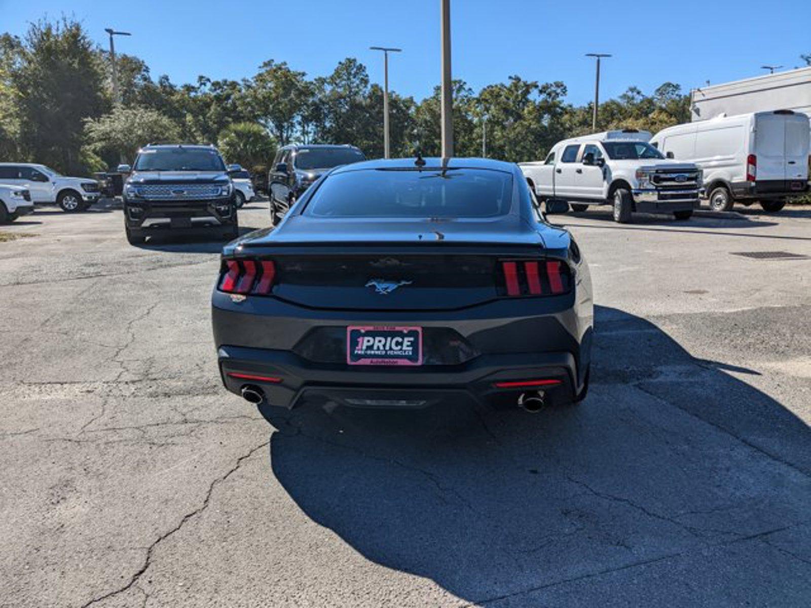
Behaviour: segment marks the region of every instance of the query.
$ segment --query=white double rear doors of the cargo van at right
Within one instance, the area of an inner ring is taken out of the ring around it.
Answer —
[[[757,182],[808,178],[809,118],[783,111],[755,114]]]

